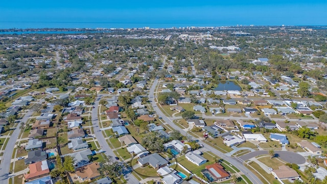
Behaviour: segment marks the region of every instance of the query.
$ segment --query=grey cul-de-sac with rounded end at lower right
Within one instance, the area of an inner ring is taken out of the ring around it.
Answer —
[[[287,163],[294,163],[294,164],[304,164],[306,163],[306,158],[303,157],[300,154],[294,153],[292,151],[275,151],[276,156],[283,159]],[[248,160],[250,158],[253,158],[255,156],[263,155],[263,154],[268,154],[268,151],[254,151],[250,152],[248,154],[242,155],[239,158],[242,160]]]

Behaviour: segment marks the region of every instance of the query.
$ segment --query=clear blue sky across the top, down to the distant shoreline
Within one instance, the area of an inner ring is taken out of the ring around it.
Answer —
[[[327,1],[6,1],[0,28],[13,22],[327,25]]]

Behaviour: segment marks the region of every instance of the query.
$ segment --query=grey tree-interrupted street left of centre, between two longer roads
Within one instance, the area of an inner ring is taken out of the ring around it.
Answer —
[[[94,130],[94,134],[97,137],[98,143],[101,146],[101,149],[105,152],[106,155],[110,155],[114,158],[114,157],[116,157],[116,155],[113,153],[113,151],[109,147],[107,141],[105,140],[105,137],[102,134],[102,131],[100,130],[100,124],[99,124],[99,119],[98,119],[98,109],[99,109],[100,99],[101,99],[101,95],[96,98],[95,103],[94,103],[95,108],[92,109],[92,114],[91,114],[92,126],[93,126],[93,130]],[[131,183],[131,184],[139,183],[139,181],[131,173],[126,174],[125,178],[128,183]]]

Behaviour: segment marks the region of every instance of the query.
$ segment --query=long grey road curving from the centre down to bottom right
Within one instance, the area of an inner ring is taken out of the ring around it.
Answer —
[[[155,87],[158,83],[158,80],[154,80],[151,89],[150,89],[150,94],[149,94],[149,99],[151,101],[151,105],[153,107],[153,109],[157,112],[158,116],[162,117],[162,120],[164,120],[165,122],[167,122],[173,129],[180,131],[181,134],[186,135],[187,133],[181,129],[180,127],[178,127],[177,125],[175,125],[171,119],[169,119],[168,117],[165,116],[164,113],[162,113],[162,111],[157,107],[157,104],[154,101],[154,90]],[[190,136],[188,134],[188,136]],[[243,166],[242,162],[238,159],[226,156],[224,153],[218,151],[217,149],[205,144],[204,142],[202,142],[201,140],[191,136],[193,140],[198,140],[200,144],[203,144],[204,147],[207,150],[210,150],[212,153],[214,153],[215,155],[223,158],[224,160],[226,160],[227,162],[229,162],[231,165],[237,167],[241,172],[243,172],[250,180],[252,183],[262,183],[260,181],[260,179],[258,177],[256,177],[250,170],[248,170],[245,166]]]

